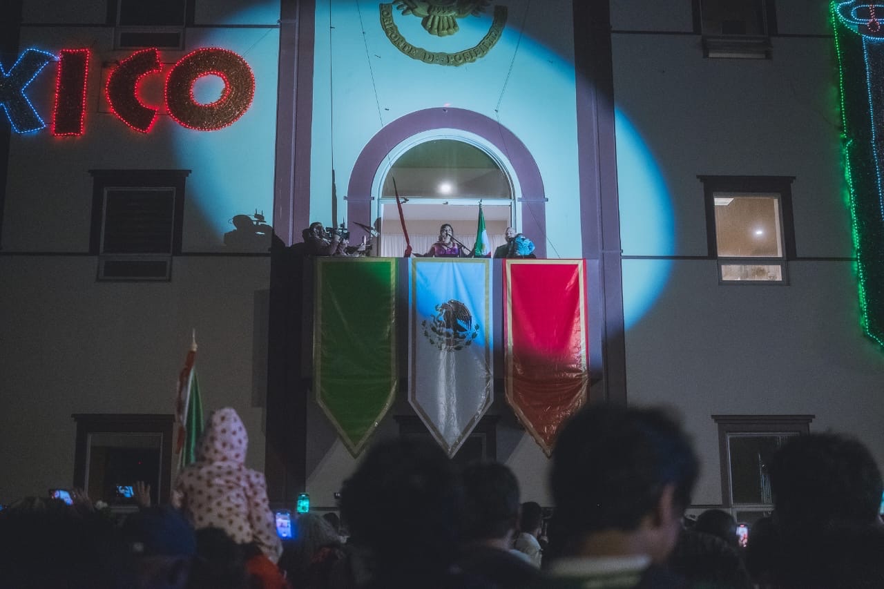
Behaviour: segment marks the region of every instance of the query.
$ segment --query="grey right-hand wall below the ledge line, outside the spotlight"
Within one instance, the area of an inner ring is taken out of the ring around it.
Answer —
[[[624,274],[643,272],[626,261]],[[721,499],[711,416],[815,415],[811,432],[856,435],[884,464],[884,353],[859,326],[850,262],[792,262],[789,286],[719,286],[714,261],[677,261],[626,334],[629,402],[681,414],[703,468],[694,502]]]

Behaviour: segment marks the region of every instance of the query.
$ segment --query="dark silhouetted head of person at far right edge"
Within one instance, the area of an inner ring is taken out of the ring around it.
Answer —
[[[837,433],[796,436],[773,454],[768,473],[777,541],[767,560],[774,583],[786,589],[884,586],[884,482],[862,442]]]

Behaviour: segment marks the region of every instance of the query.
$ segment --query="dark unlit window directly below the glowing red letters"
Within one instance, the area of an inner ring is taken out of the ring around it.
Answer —
[[[99,280],[169,280],[189,170],[92,170],[89,253]]]

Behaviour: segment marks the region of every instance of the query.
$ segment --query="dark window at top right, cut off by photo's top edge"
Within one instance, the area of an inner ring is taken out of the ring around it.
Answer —
[[[770,57],[776,32],[773,0],[694,0],[694,32],[705,57]]]

